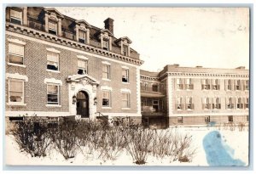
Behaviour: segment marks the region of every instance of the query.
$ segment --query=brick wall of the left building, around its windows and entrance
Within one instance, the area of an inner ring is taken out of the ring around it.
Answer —
[[[25,58],[24,65],[26,68],[8,65],[9,62],[9,42],[8,38],[16,38],[22,42],[26,42],[25,46]],[[49,43],[50,44],[50,43]],[[46,70],[47,65],[47,50],[46,48],[55,48],[60,53],[60,73],[49,72]],[[76,53],[74,51],[58,48],[52,45],[46,45],[41,42],[35,42],[15,36],[6,35],[5,42],[5,66],[6,73],[19,73],[20,75],[26,75],[28,81],[25,82],[25,104],[26,106],[9,106],[6,104],[6,111],[53,111],[53,112],[68,112],[68,86],[66,78],[67,76],[77,74],[77,55],[83,55],[83,53]],[[102,80],[102,61],[98,57],[84,55],[88,58],[88,74],[94,77],[97,81],[100,81],[101,86],[112,87],[112,109],[102,109],[102,91],[100,87],[97,87],[97,111],[101,112],[125,112],[136,113],[137,112],[137,76],[136,68],[134,66],[125,65],[129,68],[129,83],[122,83],[122,64],[108,61],[111,64],[111,81]],[[55,78],[62,81],[60,87],[60,108],[48,108],[47,104],[47,86],[44,84],[45,78]],[[131,91],[131,109],[121,109],[121,88],[127,88]],[[6,80],[6,102],[8,102],[8,80]]]

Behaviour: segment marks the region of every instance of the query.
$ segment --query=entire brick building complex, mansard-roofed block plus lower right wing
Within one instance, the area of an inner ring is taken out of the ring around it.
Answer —
[[[131,117],[143,124],[248,121],[249,72],[166,65],[140,70],[127,37],[55,8],[6,8],[6,118]],[[143,117],[142,117],[143,116]]]

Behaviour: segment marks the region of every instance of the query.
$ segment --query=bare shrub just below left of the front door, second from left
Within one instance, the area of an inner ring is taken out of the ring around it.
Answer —
[[[78,153],[77,121],[61,121],[54,135],[55,148],[67,160]]]

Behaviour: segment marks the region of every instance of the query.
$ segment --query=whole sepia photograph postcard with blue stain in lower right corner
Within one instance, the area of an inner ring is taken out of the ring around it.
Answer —
[[[7,166],[249,166],[250,6],[4,10]]]

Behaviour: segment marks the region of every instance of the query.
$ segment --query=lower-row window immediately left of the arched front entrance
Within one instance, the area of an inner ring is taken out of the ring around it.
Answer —
[[[47,104],[59,104],[59,86],[47,84]]]

